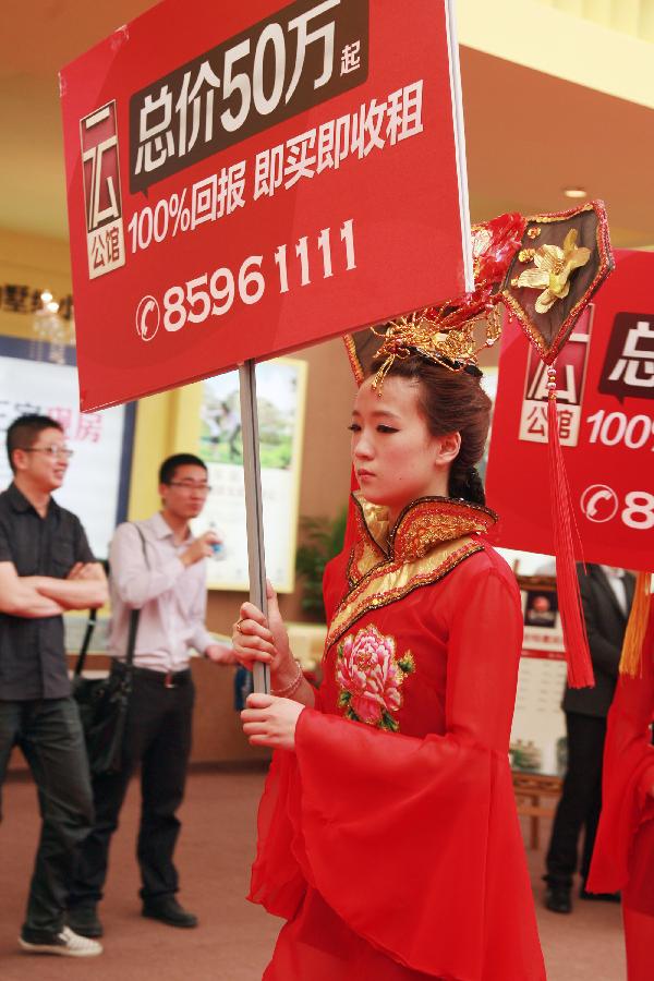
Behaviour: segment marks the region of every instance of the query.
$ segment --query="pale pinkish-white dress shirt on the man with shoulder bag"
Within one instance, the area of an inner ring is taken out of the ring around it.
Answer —
[[[130,610],[141,609],[134,665],[156,671],[182,671],[191,649],[203,654],[215,643],[205,628],[207,585],[205,562],[184,566],[180,555],[193,537],[175,545],[161,514],[120,524],[109,549],[111,623],[109,653],[125,659]]]

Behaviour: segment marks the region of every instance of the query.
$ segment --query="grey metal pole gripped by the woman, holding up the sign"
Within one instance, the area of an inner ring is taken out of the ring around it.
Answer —
[[[243,438],[243,480],[245,484],[245,516],[247,525],[247,562],[250,570],[250,602],[268,615],[266,597],[266,556],[262,499],[262,469],[258,448],[258,417],[256,411],[255,362],[239,365],[241,389],[241,432]],[[254,690],[270,691],[270,669],[267,664],[254,665]]]

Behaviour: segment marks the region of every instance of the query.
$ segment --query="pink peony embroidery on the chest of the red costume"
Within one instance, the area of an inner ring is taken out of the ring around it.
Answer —
[[[338,703],[348,718],[397,732],[392,713],[402,706],[402,685],[415,670],[410,651],[396,657],[396,639],[384,637],[376,627],[362,627],[338,645],[336,680]]]

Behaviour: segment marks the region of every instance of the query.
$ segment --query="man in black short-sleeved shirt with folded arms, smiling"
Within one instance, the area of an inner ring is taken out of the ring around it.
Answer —
[[[64,923],[75,847],[93,822],[62,614],[107,601],[80,520],[51,494],[71,450],[59,423],[22,415],[7,432],[13,483],[0,494],[0,786],[20,746],[38,787],[43,829],[21,931],[23,949],[88,957],[100,944]]]

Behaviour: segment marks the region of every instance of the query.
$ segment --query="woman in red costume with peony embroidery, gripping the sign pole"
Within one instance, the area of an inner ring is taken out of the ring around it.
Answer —
[[[474,467],[489,400],[474,367],[400,354],[379,375],[352,414],[356,536],[325,576],[319,691],[271,590],[234,627],[274,692],[242,716],[278,750],[250,898],[288,922],[264,978],[543,981],[508,762],[519,593]]]

